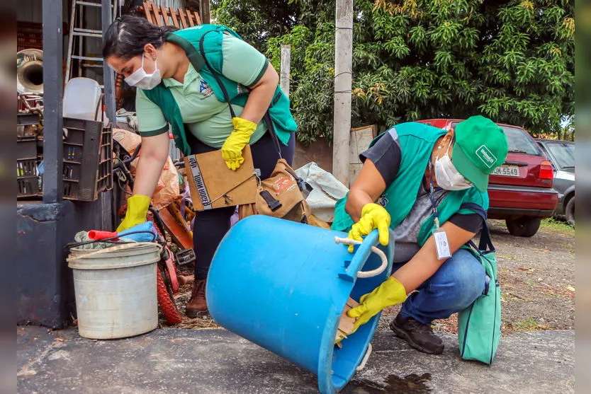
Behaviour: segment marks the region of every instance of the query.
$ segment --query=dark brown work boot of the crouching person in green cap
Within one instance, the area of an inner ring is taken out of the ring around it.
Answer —
[[[398,313],[398,316],[390,323],[390,330],[393,330],[397,337],[403,338],[420,352],[443,353],[444,344],[437,335],[434,335],[430,323],[423,324],[413,318],[405,319]]]

